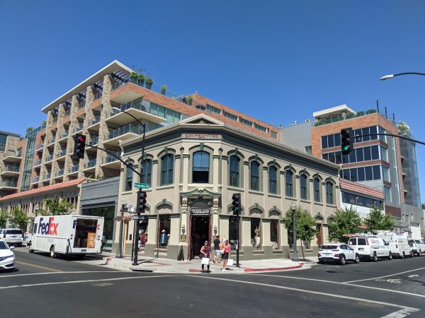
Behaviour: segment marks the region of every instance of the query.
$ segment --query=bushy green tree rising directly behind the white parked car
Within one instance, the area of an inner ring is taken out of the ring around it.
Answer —
[[[337,208],[334,213],[334,220],[329,223],[329,241],[348,242],[347,234],[359,232],[362,223],[361,217],[357,213],[357,208]]]

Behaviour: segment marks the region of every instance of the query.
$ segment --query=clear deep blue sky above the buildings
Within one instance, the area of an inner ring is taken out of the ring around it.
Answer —
[[[274,124],[379,100],[425,141],[425,1],[0,0],[0,130],[114,59]],[[417,145],[422,202],[425,146]]]

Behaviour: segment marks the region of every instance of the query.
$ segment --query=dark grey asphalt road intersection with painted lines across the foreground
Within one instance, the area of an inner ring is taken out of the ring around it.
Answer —
[[[17,270],[0,273],[0,317],[425,316],[425,257],[214,275],[113,271],[25,248],[15,254]]]

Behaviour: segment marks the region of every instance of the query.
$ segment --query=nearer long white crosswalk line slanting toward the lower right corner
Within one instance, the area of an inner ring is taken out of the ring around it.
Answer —
[[[293,291],[297,291],[297,292],[300,292],[300,293],[309,293],[309,294],[322,295],[322,296],[333,297],[333,298],[342,298],[342,299],[346,299],[346,300],[356,300],[356,301],[360,301],[360,302],[370,302],[370,303],[376,304],[376,305],[384,305],[384,306],[401,308],[402,310],[409,310],[409,312],[419,312],[419,308],[407,307],[407,306],[403,306],[403,305],[392,304],[391,302],[380,302],[378,300],[369,300],[369,299],[356,298],[356,297],[351,297],[351,296],[335,295],[335,294],[330,294],[330,293],[322,293],[322,292],[315,291],[315,290],[306,290],[306,289],[292,288],[292,287],[287,287],[287,286],[271,285],[271,284],[266,284],[266,283],[256,283],[256,282],[252,282],[252,281],[239,281],[237,279],[218,278],[218,277],[211,277],[211,276],[210,277],[207,277],[207,276],[195,276],[195,275],[185,275],[185,276],[195,277],[195,278],[204,278],[204,279],[215,279],[217,281],[227,281],[227,282],[233,281],[235,283],[243,283],[243,284],[249,284],[249,285],[259,285],[259,286],[264,286],[264,287],[272,287],[272,288],[278,288],[278,289],[293,290]],[[265,275],[265,276],[267,276],[267,275]]]

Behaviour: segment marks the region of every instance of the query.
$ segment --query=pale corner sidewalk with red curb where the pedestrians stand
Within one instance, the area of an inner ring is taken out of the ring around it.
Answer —
[[[234,263],[236,257],[233,258]],[[192,259],[191,261],[174,261],[171,259],[155,259],[141,257],[139,265],[132,266],[131,258],[125,256],[123,259],[115,258],[115,254],[103,253],[101,257],[86,257],[81,261],[84,264],[108,267],[118,271],[149,271],[154,273],[202,273],[200,259]],[[210,273],[253,273],[264,271],[289,271],[296,269],[310,269],[317,263],[317,257],[309,257],[300,261],[292,261],[291,259],[261,259],[239,261],[239,268],[227,266],[226,271],[222,271],[222,264],[214,264],[210,262]],[[206,270],[205,266],[205,270]]]

